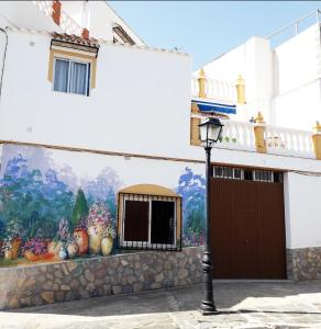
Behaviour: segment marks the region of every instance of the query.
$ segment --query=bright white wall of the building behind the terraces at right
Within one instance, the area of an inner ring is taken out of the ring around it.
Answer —
[[[211,79],[245,79],[245,120],[261,111],[265,121],[311,129],[321,120],[320,25],[314,24],[272,50],[269,41],[252,37],[204,66]]]

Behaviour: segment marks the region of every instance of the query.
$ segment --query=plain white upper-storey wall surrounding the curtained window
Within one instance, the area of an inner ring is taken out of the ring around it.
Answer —
[[[1,139],[152,155],[188,146],[190,57],[101,44],[96,89],[84,97],[52,90],[49,44],[9,33]]]

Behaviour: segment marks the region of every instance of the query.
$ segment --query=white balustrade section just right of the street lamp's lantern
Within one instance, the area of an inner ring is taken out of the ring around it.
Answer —
[[[254,124],[221,120],[224,125],[220,140],[214,147],[255,151]]]

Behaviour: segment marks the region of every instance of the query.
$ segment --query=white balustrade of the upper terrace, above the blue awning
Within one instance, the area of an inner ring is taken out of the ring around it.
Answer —
[[[236,88],[233,83],[226,81],[207,79],[206,93],[209,99],[226,102],[236,101]],[[199,95],[199,83],[197,77],[191,78],[191,95]]]

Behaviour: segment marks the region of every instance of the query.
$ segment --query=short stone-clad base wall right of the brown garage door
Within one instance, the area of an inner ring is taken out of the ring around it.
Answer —
[[[321,247],[287,249],[289,280],[321,279]]]

